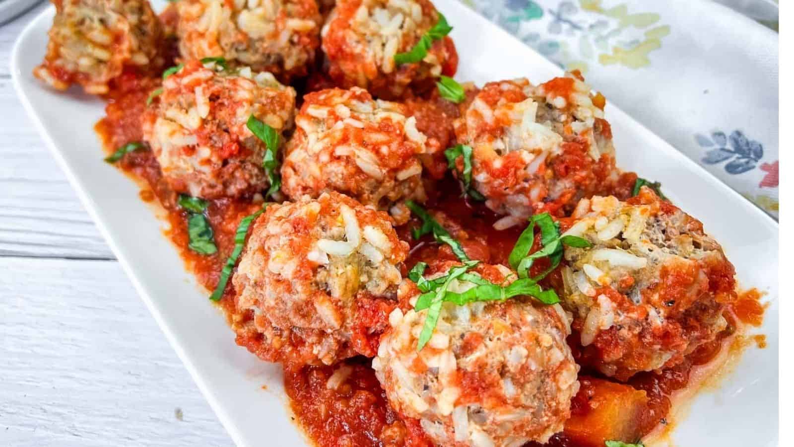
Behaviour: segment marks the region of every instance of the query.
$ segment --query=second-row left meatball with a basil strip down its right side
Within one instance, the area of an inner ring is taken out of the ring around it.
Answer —
[[[162,90],[144,112],[143,131],[173,190],[214,199],[268,187],[267,146],[246,122],[253,115],[279,134],[291,128],[292,87],[268,72],[193,60],[168,76]]]

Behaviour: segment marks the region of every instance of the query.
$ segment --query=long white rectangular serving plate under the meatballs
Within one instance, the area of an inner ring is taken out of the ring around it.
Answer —
[[[451,36],[461,57],[458,80],[483,84],[526,76],[542,82],[561,74],[456,0],[435,4],[454,26]],[[13,49],[13,81],[22,103],[237,445],[304,445],[287,412],[279,367],[234,344],[222,313],[195,286],[161,234],[160,222],[138,198],[137,185],[102,161],[93,131],[103,115],[102,101],[75,89],[67,94],[49,90],[31,75],[44,56],[53,14],[51,7],[36,17]],[[742,286],[765,291],[770,302],[760,330],[769,346],[750,348],[719,390],[700,393],[673,440],[677,445],[777,445],[777,223],[616,107],[607,106],[607,119],[619,165],[661,181],[665,194],[723,243]]]

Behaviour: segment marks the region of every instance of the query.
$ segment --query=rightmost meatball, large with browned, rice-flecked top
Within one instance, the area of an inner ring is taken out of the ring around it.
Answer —
[[[580,332],[580,363],[625,380],[673,367],[726,328],[734,266],[703,224],[653,191],[620,202],[594,196],[576,207],[566,235],[563,306]]]

